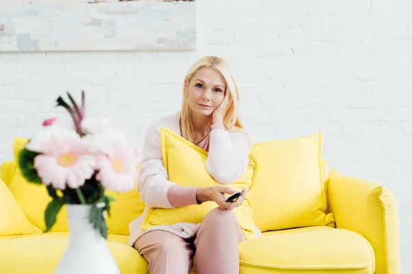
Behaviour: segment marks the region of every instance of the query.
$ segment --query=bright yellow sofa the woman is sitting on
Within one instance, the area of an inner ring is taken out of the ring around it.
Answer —
[[[53,273],[69,238],[65,208],[52,232],[42,232],[47,196],[41,187],[23,182],[16,164],[19,140],[14,140],[14,160],[1,164],[0,184],[8,186],[27,220],[41,228],[0,235],[0,273]],[[400,273],[395,197],[374,182],[329,172],[321,142],[321,134],[314,134],[253,145],[258,175],[250,195],[262,236],[240,242],[240,273]],[[144,204],[135,191],[111,195],[117,201],[108,219],[108,248],[122,274],[148,273],[144,258],[127,244],[127,225]],[[7,206],[0,201],[3,210]],[[2,221],[0,216],[0,227]]]

